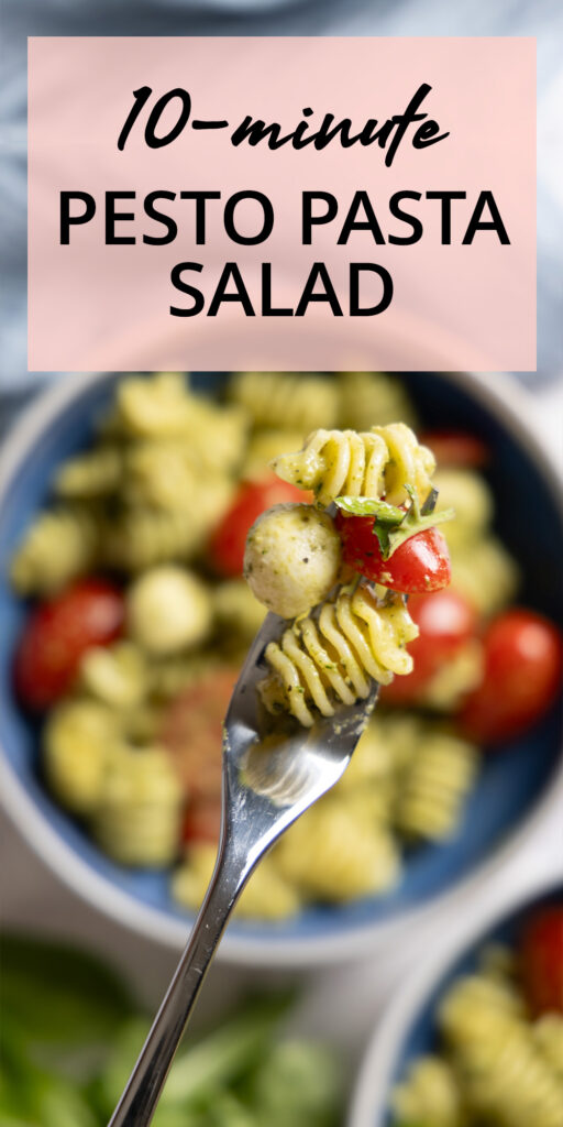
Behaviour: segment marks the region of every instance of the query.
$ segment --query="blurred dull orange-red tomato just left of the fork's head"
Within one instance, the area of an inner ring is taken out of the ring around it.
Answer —
[[[171,702],[163,718],[160,738],[188,801],[221,796],[223,721],[238,675],[225,667],[205,673]]]

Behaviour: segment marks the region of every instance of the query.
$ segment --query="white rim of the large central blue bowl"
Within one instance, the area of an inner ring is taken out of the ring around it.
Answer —
[[[39,434],[57,414],[78,399],[84,389],[102,382],[107,372],[81,373],[57,379],[27,407],[11,428],[0,450],[0,506],[18,468],[33,450]],[[423,374],[423,373],[421,373]],[[481,402],[494,418],[516,436],[519,444],[533,458],[545,479],[546,487],[561,504],[555,485],[561,482],[556,460],[544,450],[536,436],[531,396],[504,373],[489,372],[440,372],[450,381]],[[408,379],[417,379],[411,373]],[[497,387],[494,384],[497,383]],[[526,420],[526,421],[525,421]],[[129,893],[117,888],[109,879],[95,872],[53,828],[46,815],[36,807],[16,771],[0,746],[0,795],[2,804],[21,836],[37,855],[81,899],[96,907],[124,928],[138,932],[154,942],[173,950],[181,950],[187,941],[193,920],[175,917],[167,912],[143,904]],[[221,943],[218,958],[224,964],[245,967],[277,967],[304,969],[321,965],[339,964],[360,958],[377,950],[379,946],[393,943],[406,929],[426,922],[438,911],[446,911],[458,897],[468,897],[483,881],[502,869],[509,858],[525,848],[528,837],[543,820],[548,810],[563,800],[563,758],[560,760],[549,786],[536,800],[529,814],[507,838],[494,848],[491,854],[452,888],[430,897],[396,916],[384,921],[351,926],[343,932],[329,935],[267,938],[230,933]]]

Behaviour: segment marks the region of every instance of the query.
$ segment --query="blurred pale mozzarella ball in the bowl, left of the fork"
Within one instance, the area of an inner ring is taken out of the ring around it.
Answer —
[[[175,654],[203,641],[211,629],[207,588],[182,567],[151,568],[127,593],[132,638],[151,654]]]

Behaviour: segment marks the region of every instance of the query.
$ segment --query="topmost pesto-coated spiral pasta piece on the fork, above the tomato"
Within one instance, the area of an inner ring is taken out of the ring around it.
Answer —
[[[293,485],[313,489],[323,507],[339,496],[374,497],[401,505],[405,483],[420,502],[431,489],[432,453],[404,423],[369,431],[313,431],[302,451],[274,459],[272,469]]]

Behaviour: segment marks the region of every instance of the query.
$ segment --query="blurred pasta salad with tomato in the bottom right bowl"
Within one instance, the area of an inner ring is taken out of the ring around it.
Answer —
[[[437,1023],[438,1048],[393,1093],[397,1127],[560,1127],[563,904],[533,914],[515,949],[484,948]]]

